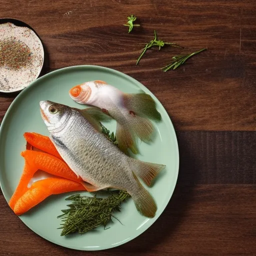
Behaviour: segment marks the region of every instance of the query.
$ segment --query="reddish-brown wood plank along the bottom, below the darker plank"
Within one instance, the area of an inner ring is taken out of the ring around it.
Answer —
[[[249,184],[177,185],[148,230],[126,244],[93,252],[44,240],[14,215],[0,195],[1,255],[255,255],[255,189]]]

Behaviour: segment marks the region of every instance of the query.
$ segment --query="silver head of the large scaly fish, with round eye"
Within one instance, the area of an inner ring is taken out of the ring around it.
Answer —
[[[61,130],[71,115],[71,107],[49,100],[40,101],[42,120],[50,132]]]

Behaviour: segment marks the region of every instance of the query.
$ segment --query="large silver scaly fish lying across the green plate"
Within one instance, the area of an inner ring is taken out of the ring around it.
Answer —
[[[100,114],[91,114],[91,110],[88,113],[87,109],[40,101],[41,116],[50,139],[76,175],[88,182],[87,190],[107,187],[125,190],[140,213],[153,217],[156,204],[137,176],[150,185],[165,165],[143,162],[124,154],[101,132],[100,122],[92,117],[99,118]]]

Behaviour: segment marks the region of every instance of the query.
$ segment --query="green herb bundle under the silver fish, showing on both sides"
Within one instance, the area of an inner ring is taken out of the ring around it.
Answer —
[[[102,125],[102,133],[105,134],[115,145],[117,141],[114,133]],[[130,195],[121,190],[111,191],[106,198],[93,196],[81,196],[79,194],[71,195],[65,200],[71,200],[68,209],[61,210],[63,214],[57,216],[63,223],[61,236],[74,232],[85,233],[93,228],[103,225],[104,228],[111,218],[116,218],[113,212],[120,210],[120,204]],[[117,219],[117,218],[116,218]],[[118,220],[118,219],[117,219]],[[119,221],[119,220],[118,220]]]

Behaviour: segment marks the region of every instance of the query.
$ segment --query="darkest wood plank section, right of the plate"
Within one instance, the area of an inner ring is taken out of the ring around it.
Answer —
[[[181,184],[255,184],[255,131],[177,131]]]

